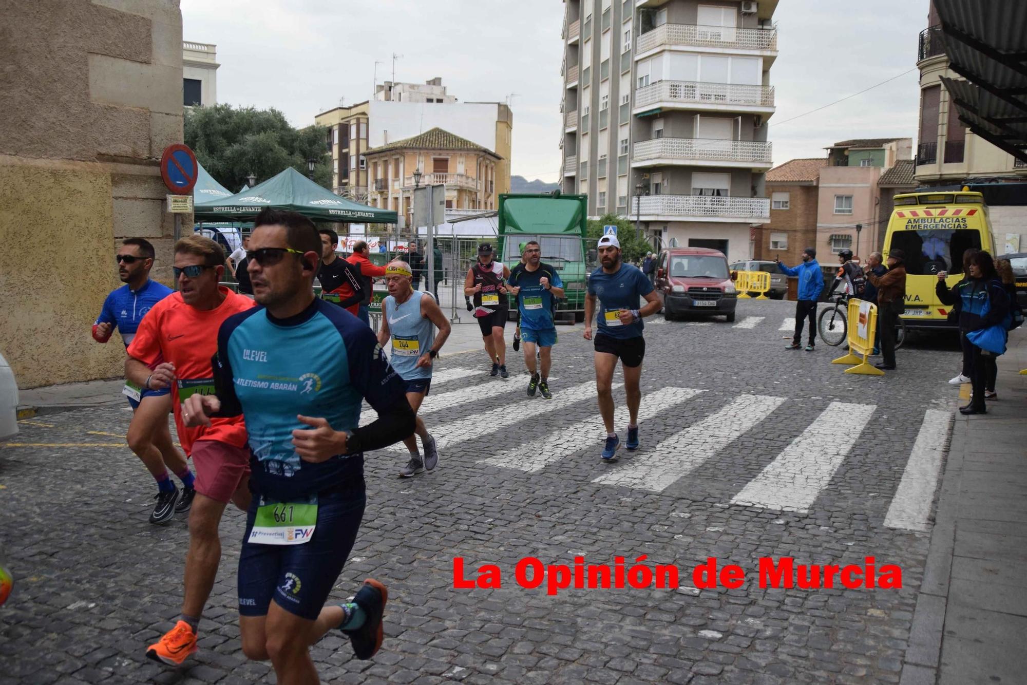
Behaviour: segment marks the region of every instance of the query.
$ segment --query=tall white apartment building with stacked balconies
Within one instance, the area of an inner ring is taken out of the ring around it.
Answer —
[[[563,182],[654,246],[750,256],[768,220],[776,0],[565,0]]]

